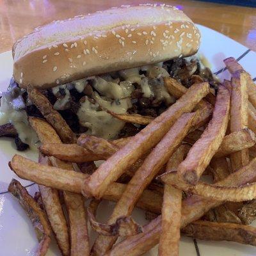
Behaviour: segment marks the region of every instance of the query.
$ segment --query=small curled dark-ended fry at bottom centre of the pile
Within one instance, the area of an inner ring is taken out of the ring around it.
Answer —
[[[124,237],[143,232],[142,227],[132,220],[131,216],[122,216],[118,218],[115,223],[110,225],[99,223],[95,218],[99,203],[100,202],[97,200],[92,200],[87,209],[90,224],[93,230],[95,230],[97,233],[104,236]]]

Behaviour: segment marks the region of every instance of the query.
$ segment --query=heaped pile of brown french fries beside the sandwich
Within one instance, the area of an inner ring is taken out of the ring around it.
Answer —
[[[44,95],[29,88],[47,120],[29,119],[42,142],[39,160],[15,155],[9,166],[36,182],[40,196],[32,198],[17,180],[9,190],[33,222],[37,255],[47,252],[51,231],[62,255],[74,256],[142,255],[158,243],[159,255],[179,255],[180,232],[256,245],[256,228],[248,226],[256,214],[246,211],[256,208],[256,88],[234,58],[224,62],[232,78],[216,95],[200,77],[190,88],[167,77],[166,89],[177,101],[157,118],[109,112],[147,125],[114,141],[77,139]],[[99,168],[98,160],[104,160]],[[213,181],[202,181],[206,176]],[[116,202],[108,223],[95,217],[103,199]],[[141,227],[131,218],[134,207],[152,220]],[[92,248],[88,223],[98,233]]]

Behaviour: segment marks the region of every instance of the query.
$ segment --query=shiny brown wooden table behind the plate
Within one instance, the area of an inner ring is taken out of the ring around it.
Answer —
[[[33,28],[75,15],[104,10],[121,4],[154,3],[144,0],[3,0],[0,1],[0,52]],[[220,31],[256,51],[256,8],[170,0],[163,3],[179,6],[198,24]]]

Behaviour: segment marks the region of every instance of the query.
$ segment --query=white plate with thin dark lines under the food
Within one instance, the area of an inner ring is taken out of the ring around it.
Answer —
[[[249,51],[243,45],[235,42],[227,36],[213,31],[212,29],[205,28],[198,25],[202,32],[202,45],[200,52],[212,64],[212,71],[218,72],[224,67],[223,59],[234,56],[239,58],[239,62],[243,67],[250,72],[252,77],[256,77],[256,54]],[[11,45],[10,45],[11,46]],[[12,54],[11,52],[4,52],[0,54],[0,91],[4,91],[8,86],[10,77],[12,76]],[[227,71],[219,74],[221,79],[228,78]],[[1,178],[0,178],[0,255],[5,256],[24,256],[33,255],[35,249],[36,237],[33,227],[28,220],[26,214],[20,207],[17,200],[13,199],[10,193],[6,193],[6,189],[10,180],[20,180],[8,168],[8,161],[12,158],[13,154],[20,154],[15,150],[14,144],[11,139],[0,138],[0,163],[1,163]],[[25,152],[22,155],[31,159],[36,159],[36,153]],[[21,180],[22,184],[28,186],[31,182]],[[37,189],[36,185],[28,187],[29,193],[33,195]],[[108,213],[113,208],[113,203],[104,204],[104,211],[100,212],[102,220],[107,218]],[[102,208],[101,208],[102,209]],[[134,218],[140,221],[141,224],[145,223],[144,214],[142,211],[136,209],[133,214]],[[256,249],[253,246],[245,246],[236,243],[228,242],[205,242],[197,241],[198,252],[196,254],[195,244],[193,239],[182,238],[180,243],[181,256],[196,256],[196,255],[223,255],[223,256],[241,256],[241,255],[256,255]],[[200,254],[198,254],[200,253]],[[47,253],[49,255],[60,255],[55,243],[52,243],[51,250]],[[157,255],[157,248],[152,249],[147,255]]]

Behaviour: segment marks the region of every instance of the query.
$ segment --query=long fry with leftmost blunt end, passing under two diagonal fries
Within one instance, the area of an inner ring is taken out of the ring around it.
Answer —
[[[12,162],[9,163],[9,165],[13,172],[22,179],[74,193],[81,193],[84,179],[88,177],[88,175],[84,173],[63,170],[52,166],[44,166],[19,155],[13,156]],[[114,182],[108,187],[103,198],[118,201],[122,193],[124,193],[125,188],[125,184]],[[161,212],[162,202],[163,198],[159,193],[145,190],[137,206],[148,211],[159,213]]]

